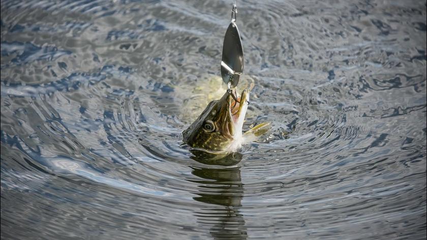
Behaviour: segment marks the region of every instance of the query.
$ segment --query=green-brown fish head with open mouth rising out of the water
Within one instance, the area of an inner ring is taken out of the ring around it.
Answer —
[[[184,142],[195,151],[209,154],[227,154],[240,148],[243,121],[249,104],[249,91],[243,90],[234,100],[226,92],[221,99],[211,101],[196,121],[182,135]]]

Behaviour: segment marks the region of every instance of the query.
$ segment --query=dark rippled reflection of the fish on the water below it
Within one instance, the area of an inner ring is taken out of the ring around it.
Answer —
[[[239,211],[244,192],[240,166],[225,167],[240,162],[242,155],[234,153],[219,160],[198,157],[194,159],[204,164],[222,166],[220,168],[193,167],[192,173],[203,178],[193,181],[203,189],[197,193],[199,197],[193,199],[221,206],[203,208],[195,213],[198,222],[211,225],[209,233],[214,239],[247,239],[245,218]]]

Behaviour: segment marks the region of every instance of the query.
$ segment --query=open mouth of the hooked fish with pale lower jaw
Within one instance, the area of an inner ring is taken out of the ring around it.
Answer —
[[[233,96],[234,98],[233,98]],[[228,115],[230,117],[229,132],[235,138],[241,136],[243,122],[245,121],[246,111],[249,105],[249,91],[244,89],[240,96],[237,96],[236,91],[232,91],[228,96]]]

